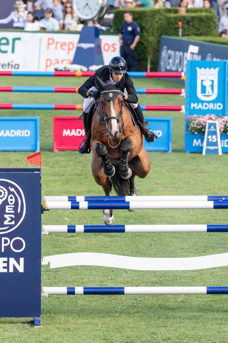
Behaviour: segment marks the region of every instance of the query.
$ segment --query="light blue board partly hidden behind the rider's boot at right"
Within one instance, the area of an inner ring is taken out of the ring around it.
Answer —
[[[146,117],[149,128],[158,135],[155,142],[148,143],[144,138],[147,151],[172,152],[172,118]]]

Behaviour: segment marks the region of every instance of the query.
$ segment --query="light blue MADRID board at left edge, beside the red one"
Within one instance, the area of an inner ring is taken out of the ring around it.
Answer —
[[[0,151],[40,151],[39,117],[0,117]]]

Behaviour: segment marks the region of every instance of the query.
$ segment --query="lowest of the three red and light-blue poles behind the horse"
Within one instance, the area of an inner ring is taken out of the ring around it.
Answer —
[[[185,106],[140,105],[143,111],[184,111]],[[0,109],[82,110],[82,104],[0,104]]]

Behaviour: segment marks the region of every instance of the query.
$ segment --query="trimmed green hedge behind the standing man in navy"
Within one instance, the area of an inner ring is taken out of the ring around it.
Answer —
[[[187,9],[184,15],[177,13],[177,8],[150,9],[133,8],[133,20],[141,28],[141,37],[136,48],[138,69],[147,70],[148,57],[151,57],[150,70],[156,71],[158,66],[160,38],[162,35],[179,36],[178,22],[182,22],[185,36],[215,35],[217,22],[212,9]],[[119,33],[123,23],[125,9],[114,11],[113,32]]]

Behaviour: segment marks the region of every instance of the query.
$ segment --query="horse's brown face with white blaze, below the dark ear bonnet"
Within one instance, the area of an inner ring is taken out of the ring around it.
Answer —
[[[118,95],[114,100],[107,100],[101,96],[100,101],[107,117],[108,134],[111,138],[117,138],[120,133],[118,115],[121,111],[122,95]]]

